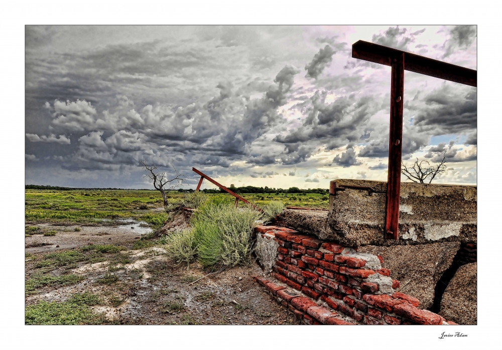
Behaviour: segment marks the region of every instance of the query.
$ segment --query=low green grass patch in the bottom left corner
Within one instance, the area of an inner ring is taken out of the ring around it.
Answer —
[[[25,309],[26,324],[100,324],[101,315],[95,314],[89,306],[99,304],[99,297],[90,293],[74,294],[64,302],[39,301]]]

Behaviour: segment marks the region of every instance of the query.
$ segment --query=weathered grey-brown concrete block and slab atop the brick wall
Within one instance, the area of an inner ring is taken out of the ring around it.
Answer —
[[[386,182],[337,179],[330,192],[327,213],[286,209],[276,220],[347,247],[477,242],[476,186],[402,183],[397,241],[382,235]]]

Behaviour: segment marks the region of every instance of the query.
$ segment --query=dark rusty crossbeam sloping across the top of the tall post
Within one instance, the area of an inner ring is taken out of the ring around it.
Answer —
[[[477,71],[410,52],[359,40],[352,45],[352,57],[391,66],[393,57],[404,54],[405,70],[439,79],[477,86]]]

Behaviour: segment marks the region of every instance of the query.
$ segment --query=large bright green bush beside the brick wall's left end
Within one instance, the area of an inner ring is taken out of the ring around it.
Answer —
[[[222,200],[202,205],[191,217],[197,255],[204,266],[235,266],[249,261],[251,236],[262,213],[243,206],[235,208]]]

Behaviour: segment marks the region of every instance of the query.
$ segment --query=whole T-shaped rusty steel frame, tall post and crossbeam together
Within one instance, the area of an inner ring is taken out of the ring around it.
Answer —
[[[391,66],[391,123],[385,237],[397,240],[403,143],[404,71],[408,70],[474,87],[477,87],[477,71],[362,40],[352,45],[352,57]]]

